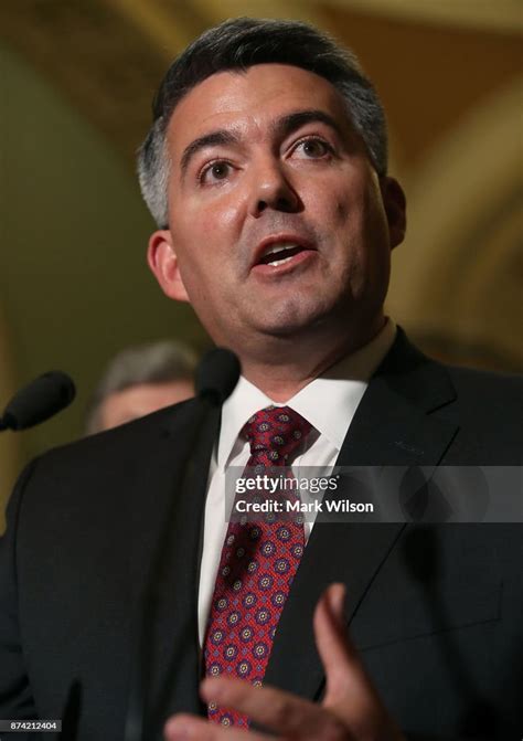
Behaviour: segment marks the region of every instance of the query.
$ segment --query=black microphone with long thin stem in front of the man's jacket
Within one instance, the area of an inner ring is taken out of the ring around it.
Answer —
[[[210,350],[200,361],[195,373],[195,417],[188,437],[191,440],[188,456],[184,461],[181,476],[181,499],[186,498],[196,488],[196,481],[201,481],[202,466],[209,468],[209,461],[199,461],[201,448],[212,444],[211,435],[214,435],[212,420],[216,411],[234,391],[238,382],[241,366],[238,358],[231,350],[214,348]],[[207,476],[207,470],[204,470]],[[157,712],[148,710],[148,679],[150,670],[149,636],[154,621],[154,610],[151,595],[153,595],[158,574],[167,560],[171,546],[171,529],[175,516],[178,497],[172,498],[172,504],[162,533],[159,537],[156,552],[149,564],[148,575],[143,591],[136,604],[132,624],[132,674],[130,678],[127,714],[125,721],[125,741],[147,741],[151,738],[150,724]]]

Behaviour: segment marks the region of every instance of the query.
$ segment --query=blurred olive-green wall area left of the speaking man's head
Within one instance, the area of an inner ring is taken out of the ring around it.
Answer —
[[[1,340],[13,377],[8,383],[2,363],[0,405],[8,387],[53,368],[78,389],[68,410],[18,433],[28,459],[82,433],[89,389],[116,350],[192,337],[198,325],[148,273],[152,225],[131,169],[49,80],[1,46],[0,67]],[[11,448],[0,454],[3,472],[12,472]]]

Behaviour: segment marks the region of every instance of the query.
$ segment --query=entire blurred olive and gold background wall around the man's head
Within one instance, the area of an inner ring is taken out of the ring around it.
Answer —
[[[23,461],[81,434],[115,351],[168,336],[207,342],[149,276],[134,154],[172,56],[241,14],[310,20],[375,81],[409,202],[393,316],[444,359],[523,369],[520,2],[3,0],[0,406],[51,368],[74,377],[78,399],[32,432],[3,434],[0,501]]]

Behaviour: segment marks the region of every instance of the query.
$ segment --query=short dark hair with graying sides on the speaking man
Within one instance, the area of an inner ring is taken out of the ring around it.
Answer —
[[[153,123],[138,151],[143,199],[160,229],[169,224],[170,158],[166,131],[172,112],[199,83],[226,70],[289,64],[328,80],[343,96],[378,176],[387,170],[387,133],[382,103],[357,57],[327,33],[300,21],[237,18],[193,41],[169,67],[153,102]]]

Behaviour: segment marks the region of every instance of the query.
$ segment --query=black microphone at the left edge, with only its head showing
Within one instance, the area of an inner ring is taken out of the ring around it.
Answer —
[[[76,395],[71,378],[49,371],[17,391],[0,417],[0,431],[26,430],[68,406]]]

